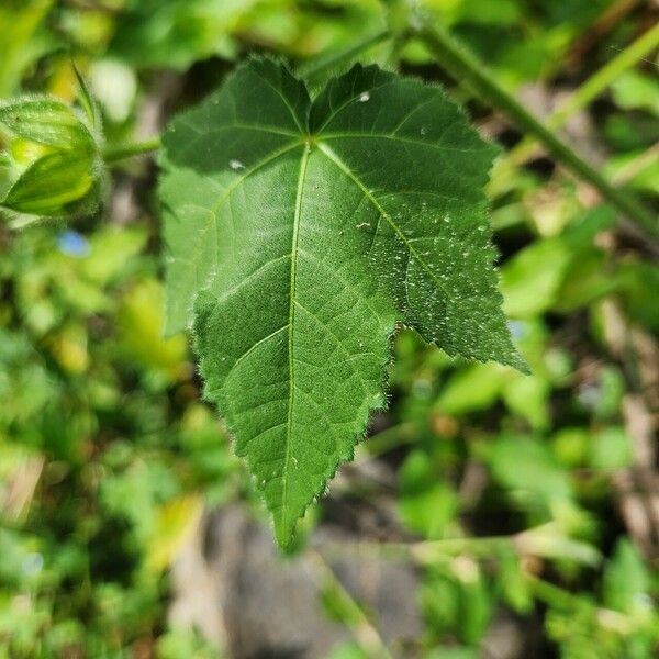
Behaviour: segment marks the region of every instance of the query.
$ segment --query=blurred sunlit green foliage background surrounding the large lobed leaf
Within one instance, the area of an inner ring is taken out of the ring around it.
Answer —
[[[102,113],[94,139],[149,137],[247,53],[319,70],[377,36],[393,4],[3,0],[0,98],[72,104],[72,57]],[[637,46],[657,30],[656,2],[421,4],[657,211],[659,40]],[[493,656],[483,639],[503,610],[543,638],[534,656],[656,656],[657,245],[618,231],[613,208],[451,85],[421,42],[376,38],[361,58],[444,83],[505,147],[491,216],[511,330],[533,368],[451,360],[398,336],[391,407],[355,467],[384,465],[394,487],[358,471],[336,494],[356,509],[389,502],[393,539],[420,574],[423,633],[391,651]],[[2,194],[54,148],[9,132],[0,144]],[[125,161],[98,177],[75,222],[7,212],[0,223],[0,657],[231,656],[168,622],[168,573],[206,511],[239,502],[264,515],[201,401],[187,338],[163,338],[155,167]],[[383,656],[358,633],[369,612],[331,579],[322,591],[327,615],[357,629],[332,658]]]

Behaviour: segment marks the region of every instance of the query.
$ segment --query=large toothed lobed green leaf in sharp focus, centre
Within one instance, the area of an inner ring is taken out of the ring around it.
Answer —
[[[193,326],[281,545],[386,404],[399,324],[525,369],[492,268],[495,153],[440,89],[375,66],[311,101],[252,60],[165,133],[168,331]]]

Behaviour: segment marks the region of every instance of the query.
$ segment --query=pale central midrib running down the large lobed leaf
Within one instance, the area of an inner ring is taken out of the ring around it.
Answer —
[[[282,493],[281,493],[281,526],[286,532],[288,527],[288,474],[291,461],[291,431],[293,427],[293,404],[295,401],[295,376],[294,376],[294,356],[293,356],[293,327],[295,323],[295,286],[298,276],[298,241],[300,236],[300,217],[302,215],[302,191],[304,189],[304,177],[306,175],[306,164],[311,147],[309,143],[304,145],[302,158],[300,159],[300,175],[298,177],[298,191],[295,194],[295,211],[293,215],[293,232],[291,239],[291,283],[290,283],[290,303],[289,303],[289,405],[288,420],[286,424],[286,455],[283,459],[282,473]]]

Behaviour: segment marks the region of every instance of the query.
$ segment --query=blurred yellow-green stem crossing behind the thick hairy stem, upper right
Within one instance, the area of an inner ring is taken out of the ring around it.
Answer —
[[[576,112],[585,108],[596,99],[610,85],[627,69],[635,66],[646,55],[659,47],[659,23],[641,34],[616,57],[607,62],[593,74],[583,85],[578,87],[547,119],[548,129],[560,129]],[[506,159],[515,165],[522,165],[530,158],[537,148],[533,137],[525,137],[506,155]]]

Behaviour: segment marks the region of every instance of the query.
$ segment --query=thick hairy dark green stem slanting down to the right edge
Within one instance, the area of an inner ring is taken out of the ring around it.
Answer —
[[[579,178],[591,183],[600,194],[633,221],[633,228],[640,230],[647,237],[659,239],[657,219],[634,197],[614,188],[596,169],[579,157],[565,142],[543,125],[528,110],[505,91],[471,53],[467,52],[444,30],[420,25],[417,35],[437,57],[446,71],[460,82],[467,83],[479,97],[503,111],[520,129],[539,139],[548,152],[572,170]]]

